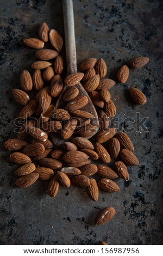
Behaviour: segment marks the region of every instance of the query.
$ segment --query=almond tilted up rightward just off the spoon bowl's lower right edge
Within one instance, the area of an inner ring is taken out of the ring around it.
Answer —
[[[102,130],[102,131],[98,132],[98,134],[96,136],[96,141],[98,143],[104,143],[106,141],[109,141],[110,138],[115,136],[116,132],[117,132],[117,130],[114,127]]]

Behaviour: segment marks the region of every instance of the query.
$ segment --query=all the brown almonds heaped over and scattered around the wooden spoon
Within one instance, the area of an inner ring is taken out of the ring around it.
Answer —
[[[18,138],[8,139],[4,144],[6,149],[15,151],[10,154],[10,161],[20,164],[15,172],[18,177],[15,185],[26,188],[37,179],[49,180],[47,192],[51,197],[56,196],[60,185],[86,187],[89,197],[97,201],[99,190],[120,191],[114,181],[117,178],[129,180],[126,165],[139,165],[128,135],[109,127],[109,119],[116,115],[109,89],[116,82],[104,78],[106,63],[96,58],[85,60],[80,65],[81,72],[64,77],[60,34],[54,29],[50,31],[43,23],[39,36],[40,39],[24,40],[24,44],[37,49],[36,58],[39,60],[32,64],[33,74],[28,70],[22,71],[21,89],[12,90],[15,100],[23,105],[19,118],[24,120],[17,133]],[[54,50],[43,48],[47,41],[51,42]],[[137,57],[129,66],[141,68],[148,61],[147,57]],[[123,65],[117,72],[117,81],[125,83],[128,76],[129,68]],[[78,95],[76,85],[79,82],[98,112],[100,127],[92,142],[89,138],[94,116],[81,109],[87,105],[88,98]],[[35,99],[28,95],[32,89],[37,91]],[[136,103],[143,105],[146,102],[146,96],[139,89],[130,87],[129,93]],[[61,101],[63,107],[58,108]],[[65,140],[61,148],[56,149],[52,144],[52,134]],[[104,147],[106,144],[107,148]],[[111,159],[115,160],[114,169],[109,167]],[[99,212],[96,224],[104,224],[114,215],[115,209],[109,206]]]

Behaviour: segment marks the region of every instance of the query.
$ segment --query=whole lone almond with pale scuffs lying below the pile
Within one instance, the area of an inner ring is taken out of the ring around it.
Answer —
[[[102,225],[107,223],[114,217],[115,214],[116,211],[113,207],[107,207],[103,209],[96,217],[96,225]]]

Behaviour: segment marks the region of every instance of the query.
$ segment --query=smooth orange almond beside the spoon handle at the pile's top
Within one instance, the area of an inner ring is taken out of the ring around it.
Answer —
[[[55,50],[60,52],[63,45],[63,40],[61,35],[55,29],[51,29],[49,33],[49,39],[51,41],[51,44],[55,48]]]

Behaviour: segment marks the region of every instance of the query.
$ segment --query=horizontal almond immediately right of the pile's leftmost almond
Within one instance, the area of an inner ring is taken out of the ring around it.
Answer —
[[[27,156],[39,156],[44,151],[45,151],[45,148],[41,143],[34,143],[24,148],[22,152]]]

